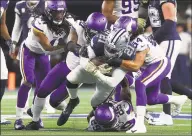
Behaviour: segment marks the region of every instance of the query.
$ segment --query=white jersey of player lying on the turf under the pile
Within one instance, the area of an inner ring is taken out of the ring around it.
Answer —
[[[99,125],[93,116],[89,121],[88,131],[127,131],[135,124],[135,113],[133,107],[127,101],[120,101],[114,104],[117,122],[111,128],[104,128]]]

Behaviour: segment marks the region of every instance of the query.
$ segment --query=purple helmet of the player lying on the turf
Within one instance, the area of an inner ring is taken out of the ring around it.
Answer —
[[[105,128],[109,128],[117,122],[115,110],[112,104],[104,103],[95,110],[95,120]]]

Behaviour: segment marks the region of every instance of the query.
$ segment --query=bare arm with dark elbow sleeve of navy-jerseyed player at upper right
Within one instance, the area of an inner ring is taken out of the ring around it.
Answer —
[[[170,30],[173,26],[176,25],[176,8],[175,0],[166,0],[166,2],[161,3],[161,8],[163,12],[163,17],[165,19],[162,26],[154,33],[154,39],[160,43],[158,39],[161,39],[161,36],[164,34],[165,30]]]

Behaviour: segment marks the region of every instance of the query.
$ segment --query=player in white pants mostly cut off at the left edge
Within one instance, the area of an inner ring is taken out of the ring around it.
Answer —
[[[9,54],[11,57],[14,58],[14,52],[15,52],[15,47],[16,45],[12,42],[11,37],[9,35],[7,25],[6,25],[6,10],[8,7],[8,0],[2,0],[0,1],[0,33],[1,37],[6,40],[6,44],[9,46]],[[0,47],[1,48],[1,47]],[[4,95],[5,92],[5,86],[6,86],[6,80],[8,77],[8,69],[5,61],[5,56],[3,53],[3,50],[1,50],[1,79],[0,79],[0,84],[1,84],[1,90],[0,90],[0,101]],[[3,118],[1,118],[1,124],[10,124],[10,121],[7,121]]]

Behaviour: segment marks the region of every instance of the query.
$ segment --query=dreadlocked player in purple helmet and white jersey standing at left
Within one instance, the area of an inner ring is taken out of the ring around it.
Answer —
[[[68,18],[66,10],[65,1],[46,1],[44,13],[32,23],[20,53],[20,69],[24,79],[19,89],[19,93],[22,93],[22,98],[18,99],[21,108],[24,108],[34,82],[38,90],[40,83],[50,71],[48,55],[67,53],[70,50],[67,37],[74,20]],[[24,129],[21,118],[17,118],[14,127],[16,130]]]

